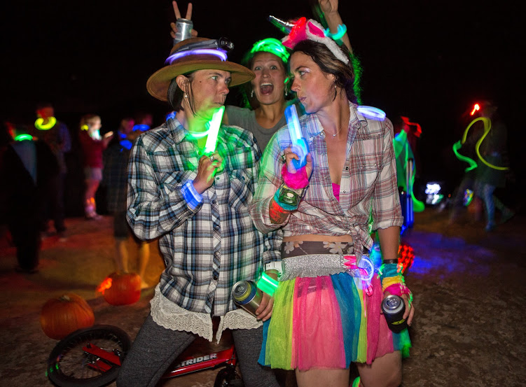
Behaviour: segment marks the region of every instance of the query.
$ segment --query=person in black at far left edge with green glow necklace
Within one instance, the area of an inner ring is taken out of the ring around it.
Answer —
[[[16,246],[17,272],[38,271],[41,213],[48,186],[59,174],[57,157],[48,144],[33,139],[27,127],[7,125],[11,135],[0,162],[1,215]]]

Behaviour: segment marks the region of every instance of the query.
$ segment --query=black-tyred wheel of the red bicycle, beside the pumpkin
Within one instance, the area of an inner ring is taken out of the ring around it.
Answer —
[[[102,387],[117,378],[120,366],[84,351],[88,344],[119,356],[122,363],[131,341],[126,332],[112,325],[94,325],[64,337],[48,358],[46,374],[55,386]]]

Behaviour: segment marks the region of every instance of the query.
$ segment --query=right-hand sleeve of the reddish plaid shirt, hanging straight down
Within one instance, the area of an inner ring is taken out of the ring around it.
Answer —
[[[382,164],[380,165],[380,174],[375,185],[372,201],[373,231],[403,224],[398,184],[396,183],[393,125],[389,120],[385,120]]]

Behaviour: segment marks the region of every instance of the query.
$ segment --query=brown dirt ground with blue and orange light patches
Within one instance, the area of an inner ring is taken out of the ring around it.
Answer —
[[[526,216],[519,214],[490,233],[467,213],[452,226],[447,218],[436,209],[416,213],[413,229],[403,236],[416,255],[406,282],[417,312],[410,328],[411,356],[403,360],[403,386],[526,386]],[[116,325],[132,338],[148,314],[153,289],[144,290],[136,304],[121,307],[95,293],[113,271],[111,218],[69,218],[67,227],[67,241],[43,241],[37,274],[13,270],[15,249],[1,232],[1,386],[51,386],[46,360],[57,341],[39,323],[41,307],[50,297],[77,293],[95,311],[95,323]],[[153,286],[162,268],[153,242],[146,281]],[[227,336],[219,346],[199,342],[191,350],[229,345]],[[199,372],[163,386],[211,387],[215,375]]]

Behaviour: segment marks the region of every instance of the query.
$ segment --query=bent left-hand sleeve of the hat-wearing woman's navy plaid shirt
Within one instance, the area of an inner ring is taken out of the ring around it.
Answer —
[[[128,164],[126,217],[139,239],[160,237],[200,210],[202,202],[185,198],[184,183],[179,181],[161,188],[144,137],[137,139]]]

